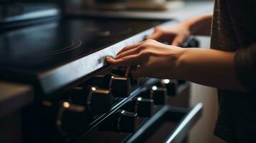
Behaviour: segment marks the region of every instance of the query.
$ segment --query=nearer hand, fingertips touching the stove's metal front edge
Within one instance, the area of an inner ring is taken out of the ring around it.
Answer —
[[[155,40],[146,40],[139,44],[125,46],[115,59],[107,57],[114,66],[137,66],[133,77],[178,78],[179,57],[183,48],[161,44]]]

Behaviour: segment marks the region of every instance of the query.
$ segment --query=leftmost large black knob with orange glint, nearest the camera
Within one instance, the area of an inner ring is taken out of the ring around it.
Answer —
[[[61,102],[57,113],[56,126],[62,135],[75,132],[82,124],[87,122],[85,106]]]

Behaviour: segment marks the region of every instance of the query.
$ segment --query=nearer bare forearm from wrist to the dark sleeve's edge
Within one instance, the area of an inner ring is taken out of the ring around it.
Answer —
[[[177,61],[179,79],[218,89],[245,91],[234,70],[234,52],[184,49]]]

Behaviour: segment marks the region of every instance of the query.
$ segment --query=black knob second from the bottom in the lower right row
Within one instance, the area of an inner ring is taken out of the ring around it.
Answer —
[[[136,97],[136,99],[125,104],[124,108],[129,112],[136,112],[138,117],[151,117],[153,111],[153,99]]]

